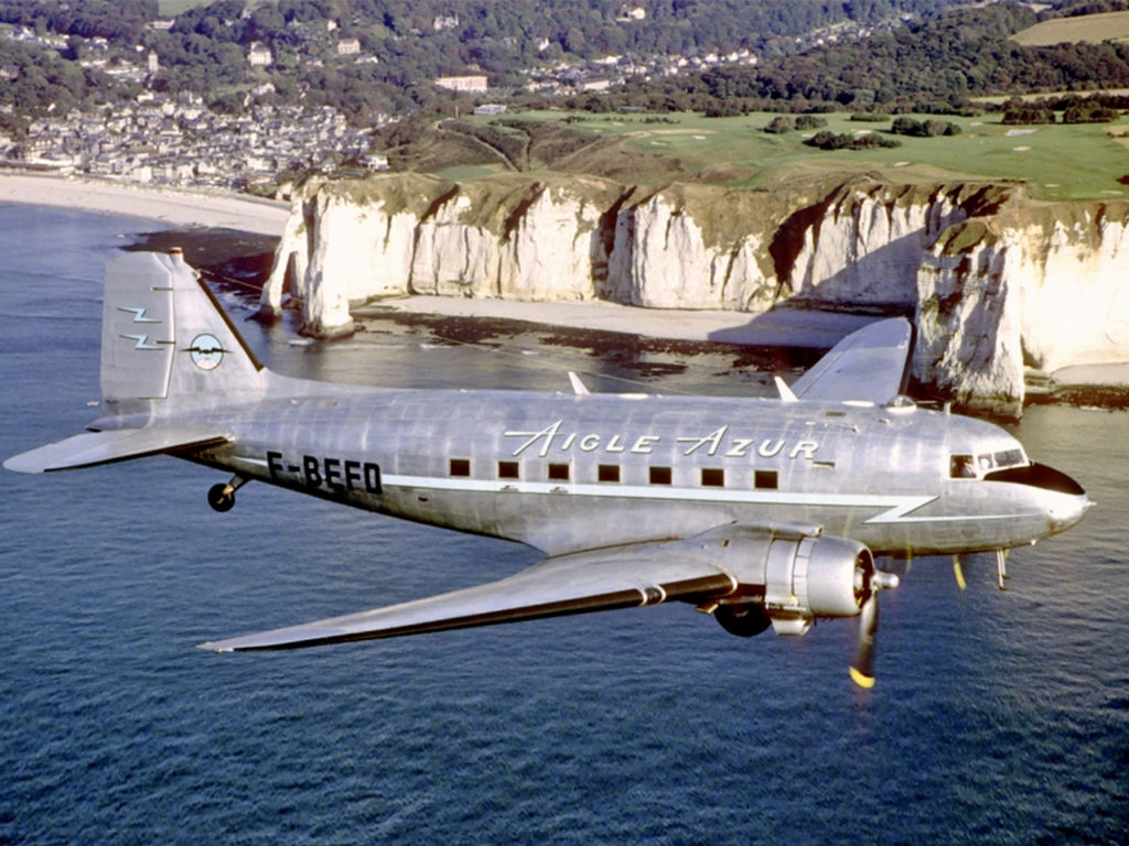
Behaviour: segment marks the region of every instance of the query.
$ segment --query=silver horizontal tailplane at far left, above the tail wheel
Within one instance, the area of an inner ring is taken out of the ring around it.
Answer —
[[[225,441],[227,441],[226,435],[191,426],[154,426],[151,429],[85,432],[68,438],[65,441],[49,443],[45,447],[12,456],[3,462],[3,466],[17,473],[75,470],[160,452],[213,447]]]

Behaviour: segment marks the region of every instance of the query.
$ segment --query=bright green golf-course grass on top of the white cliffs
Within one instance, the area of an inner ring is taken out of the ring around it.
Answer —
[[[511,117],[561,120],[560,112],[530,112]],[[776,187],[796,180],[823,179],[848,173],[881,171],[886,178],[1016,179],[1032,196],[1047,200],[1114,197],[1129,194],[1118,178],[1129,174],[1129,148],[1111,136],[1108,124],[1005,126],[998,115],[944,117],[962,133],[952,136],[896,135],[894,149],[824,152],[803,144],[811,132],[770,134],[763,127],[776,116],[756,113],[709,118],[669,115],[674,123],[645,123],[642,115],[580,115],[569,124],[596,135],[615,135],[639,152],[677,157],[688,176],[734,186]],[[863,123],[847,114],[823,115],[832,132],[889,130],[890,122]],[[926,115],[914,115],[925,118]],[[492,118],[474,118],[489,122]],[[1129,125],[1124,126],[1129,130]],[[734,171],[726,174],[726,170]],[[717,179],[709,179],[717,173]],[[640,182],[647,182],[640,173]]]

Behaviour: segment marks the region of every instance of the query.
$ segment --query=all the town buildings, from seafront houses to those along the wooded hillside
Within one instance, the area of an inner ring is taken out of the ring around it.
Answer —
[[[168,28],[174,21],[155,21]],[[449,26],[436,18],[434,26]],[[334,26],[327,27],[333,36]],[[379,112],[370,125],[358,126],[333,106],[288,105],[279,102],[271,81],[243,94],[234,113],[210,108],[200,94],[160,90],[154,80],[160,68],[157,55],[138,45],[134,54],[122,54],[106,38],[89,39],[35,33],[27,27],[2,25],[0,39],[33,44],[60,54],[82,56],[79,64],[103,72],[114,85],[137,90],[129,102],[106,103],[95,111],[70,109],[64,114],[30,121],[21,138],[0,132],[0,168],[64,176],[84,176],[138,185],[207,187],[285,196],[295,177],[310,173],[352,174],[386,170],[388,159],[374,149],[373,132],[399,116]],[[378,63],[360,51],[359,42],[334,37],[333,61]],[[545,45],[548,46],[548,45]],[[250,68],[273,62],[270,47],[255,42],[245,53]],[[321,61],[321,60],[310,60]],[[641,59],[612,55],[587,63],[559,62],[524,72],[523,90],[558,96],[568,92],[598,94],[631,77],[676,76],[723,62],[755,64],[747,50],[729,54],[708,53]],[[12,81],[19,69],[0,67],[0,78]],[[464,74],[437,77],[439,89],[478,99],[501,98],[479,69]],[[2,107],[11,114],[12,107]],[[481,114],[506,112],[504,103],[485,102]]]

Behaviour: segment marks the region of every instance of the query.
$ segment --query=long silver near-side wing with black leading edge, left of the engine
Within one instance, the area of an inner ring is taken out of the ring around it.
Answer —
[[[402,605],[200,644],[216,652],[317,646],[733,593],[737,580],[686,541],[545,558],[507,579]]]

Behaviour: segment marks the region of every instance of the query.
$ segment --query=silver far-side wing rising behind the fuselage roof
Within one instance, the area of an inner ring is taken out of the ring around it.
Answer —
[[[796,399],[889,403],[902,393],[913,328],[903,317],[852,332],[791,386]]]

